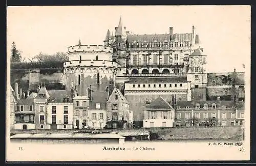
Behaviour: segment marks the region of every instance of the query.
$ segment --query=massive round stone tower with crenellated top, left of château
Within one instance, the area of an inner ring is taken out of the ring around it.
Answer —
[[[79,96],[111,91],[115,84],[117,63],[113,62],[113,48],[102,45],[68,47],[69,61],[63,63],[66,90],[76,89]]]

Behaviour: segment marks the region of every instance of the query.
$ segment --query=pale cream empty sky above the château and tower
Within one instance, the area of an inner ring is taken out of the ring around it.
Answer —
[[[122,17],[134,34],[191,33],[207,55],[208,72],[250,69],[250,6],[28,6],[7,8],[7,55],[12,42],[23,58],[67,52],[81,44],[103,45]],[[245,69],[243,65],[245,64]]]

